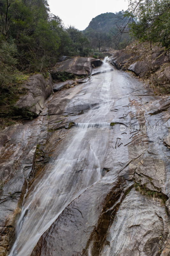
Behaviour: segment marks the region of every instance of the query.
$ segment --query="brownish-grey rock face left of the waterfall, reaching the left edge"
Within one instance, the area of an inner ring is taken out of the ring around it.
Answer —
[[[42,121],[43,116],[39,116],[0,132],[0,255],[3,256],[8,254],[15,240],[16,223],[34,172]]]

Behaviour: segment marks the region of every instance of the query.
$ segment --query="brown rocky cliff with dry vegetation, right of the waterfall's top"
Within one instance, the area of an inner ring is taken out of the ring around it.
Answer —
[[[158,44],[133,43],[111,56],[116,68],[133,72],[148,82],[154,92],[170,93],[170,51]]]

